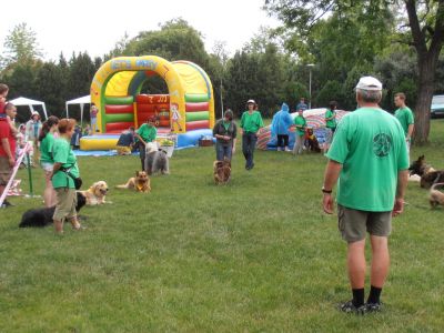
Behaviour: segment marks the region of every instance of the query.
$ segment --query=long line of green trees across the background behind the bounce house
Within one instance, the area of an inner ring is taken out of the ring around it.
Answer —
[[[169,61],[190,60],[206,71],[213,84],[216,117],[221,117],[222,108],[230,108],[240,117],[248,99],[256,100],[263,114],[272,117],[282,102],[294,110],[300,98],[310,99],[310,89],[312,108],[336,100],[340,109],[354,110],[353,88],[360,77],[373,74],[384,83],[382,107],[385,110],[394,110],[393,95],[403,91],[416,119],[421,118],[425,111],[415,110],[418,100],[424,103],[418,84],[422,82],[420,59],[415,47],[405,42],[406,32],[396,30],[405,21],[400,8],[394,11],[394,7],[384,7],[382,1],[376,9],[371,9],[370,3],[375,1],[362,1],[344,9],[339,6],[341,1],[326,1],[339,7],[325,8],[330,16],[309,22],[302,2],[265,1],[265,9],[280,17],[284,24],[274,30],[263,28],[232,56],[223,42],[206,52],[202,34],[186,21],[175,19],[132,39],[123,36],[101,58],[91,59],[88,52],[79,52],[68,60],[60,54],[58,61],[43,61],[32,30],[20,23],[6,40],[9,52],[0,59],[0,80],[10,85],[9,98],[24,95],[43,100],[50,114],[62,117],[67,100],[89,93],[91,80],[102,63],[119,56],[155,54]],[[290,14],[290,9],[295,11],[292,19],[284,16]],[[301,23],[297,18],[305,21]],[[300,29],[301,24],[310,29]],[[444,59],[438,57],[431,94],[444,91],[440,83],[444,78],[443,64]],[[158,78],[145,82],[142,92],[167,93],[168,88]],[[424,108],[421,103],[420,107]],[[420,131],[426,135],[418,141],[426,141],[428,123],[421,125]]]

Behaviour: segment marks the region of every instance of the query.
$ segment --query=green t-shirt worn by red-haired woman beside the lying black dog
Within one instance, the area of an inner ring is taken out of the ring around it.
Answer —
[[[63,139],[58,138],[54,140],[52,145],[52,155],[54,158],[54,163],[61,163],[62,168],[71,169],[73,176],[79,176],[79,167],[77,165],[77,159],[71,150],[70,143]],[[67,182],[68,181],[68,182]],[[75,189],[74,181],[63,171],[57,171],[52,176],[52,186],[58,188]]]

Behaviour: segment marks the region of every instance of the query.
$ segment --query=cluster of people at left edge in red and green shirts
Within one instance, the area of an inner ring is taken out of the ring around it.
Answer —
[[[41,122],[40,115],[33,112],[31,120],[26,124],[26,133],[19,132],[13,123],[17,108],[6,101],[8,91],[8,87],[0,83],[0,195],[10,181],[16,167],[17,141],[27,135],[33,144],[33,157],[38,159],[44,172],[44,204],[48,208],[56,205],[53,214],[56,231],[63,232],[65,220],[71,222],[73,229],[82,229],[75,212],[77,194],[73,180],[80,176],[80,172],[70,144],[75,120],[59,120],[51,115]],[[7,200],[3,204],[12,205]]]

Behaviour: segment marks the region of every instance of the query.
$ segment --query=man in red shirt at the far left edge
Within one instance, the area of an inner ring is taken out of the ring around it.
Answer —
[[[12,168],[16,164],[16,137],[11,130],[8,117],[11,121],[16,119],[17,108],[12,103],[4,105],[7,118],[0,119],[0,196],[12,174]],[[6,206],[12,205],[4,200]]]

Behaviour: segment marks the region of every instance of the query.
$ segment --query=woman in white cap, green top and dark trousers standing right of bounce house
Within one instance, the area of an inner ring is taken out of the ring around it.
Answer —
[[[245,169],[251,170],[254,168],[254,149],[258,142],[258,132],[264,127],[261,112],[258,111],[258,104],[254,100],[246,102],[246,111],[242,113],[241,118],[241,133],[242,133],[242,152],[245,157]]]

